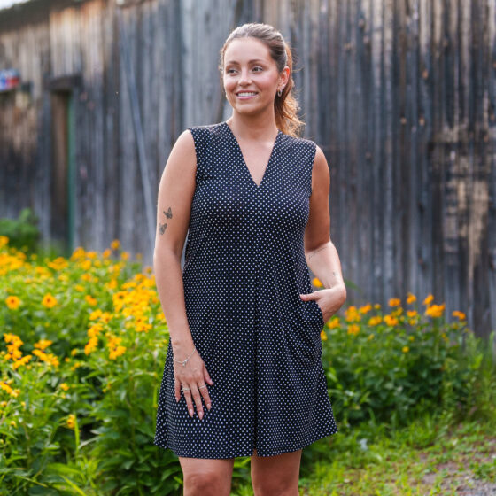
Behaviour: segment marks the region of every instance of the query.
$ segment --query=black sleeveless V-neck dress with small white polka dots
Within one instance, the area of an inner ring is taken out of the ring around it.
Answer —
[[[257,185],[226,121],[188,129],[197,173],[182,279],[212,409],[202,398],[200,420],[194,400],[193,417],[182,392],[175,401],[169,340],[153,444],[192,458],[297,451],[337,432],[322,310],[299,298],[313,291],[304,232],[316,145],[279,131]]]

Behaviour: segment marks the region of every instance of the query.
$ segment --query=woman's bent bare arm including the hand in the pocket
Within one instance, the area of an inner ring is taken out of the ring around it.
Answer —
[[[308,267],[324,289],[300,295],[300,298],[314,299],[321,306],[325,321],[336,314],[346,301],[346,287],[339,255],[329,234],[329,184],[327,160],[321,148],[317,146],[312,174],[310,213],[305,231],[305,256]]]

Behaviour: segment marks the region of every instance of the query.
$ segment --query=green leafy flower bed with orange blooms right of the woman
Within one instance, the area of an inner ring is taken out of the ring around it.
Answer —
[[[452,415],[453,422],[494,415],[491,346],[466,321],[426,317],[416,305],[412,318],[400,308],[391,315],[347,312],[349,322],[335,317],[328,323],[322,353],[344,426],[373,421],[396,429],[426,411]]]

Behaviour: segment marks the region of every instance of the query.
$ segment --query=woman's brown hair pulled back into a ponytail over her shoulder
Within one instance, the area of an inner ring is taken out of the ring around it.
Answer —
[[[292,78],[293,59],[291,49],[284,42],[283,35],[275,27],[265,23],[249,22],[231,31],[228,39],[221,48],[221,62],[219,65],[221,78],[224,73],[224,52],[228,48],[229,43],[237,38],[247,37],[256,38],[267,45],[279,74],[283,72],[285,66],[290,68],[290,77],[286,86],[284,86],[283,94],[281,97],[276,94],[274,99],[275,125],[287,135],[299,136],[305,122],[298,119],[298,101],[293,94],[294,81]]]

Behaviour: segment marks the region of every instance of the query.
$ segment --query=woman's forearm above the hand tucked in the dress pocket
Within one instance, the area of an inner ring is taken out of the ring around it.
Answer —
[[[336,246],[329,240],[311,252],[305,252],[306,263],[324,288],[339,288],[346,295],[345,281]]]

